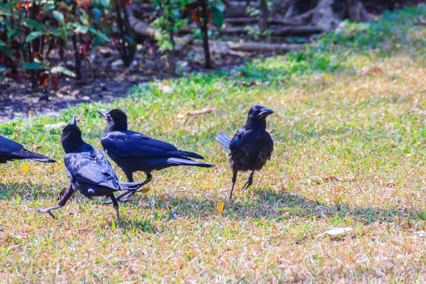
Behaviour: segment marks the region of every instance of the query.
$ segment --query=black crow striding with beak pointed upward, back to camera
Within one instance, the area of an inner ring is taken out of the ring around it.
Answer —
[[[119,182],[104,154],[83,141],[82,131],[77,126],[75,116],[72,123],[62,130],[60,141],[65,151],[65,170],[71,183],[58,205],[38,209],[38,212],[48,213],[56,219],[52,211],[65,206],[75,190],[80,190],[82,195],[89,199],[94,196],[111,198],[117,212],[117,218],[119,218],[119,204],[114,197],[114,192],[137,190],[143,185],[143,182]]]

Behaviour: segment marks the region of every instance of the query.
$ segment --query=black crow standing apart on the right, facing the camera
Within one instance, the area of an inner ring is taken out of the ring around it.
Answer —
[[[225,133],[219,133],[215,137],[224,148],[229,149],[229,162],[232,169],[229,200],[232,199],[236,175],[240,170],[251,170],[249,180],[244,185],[245,189],[253,183],[254,171],[261,170],[266,161],[271,159],[273,141],[266,131],[266,116],[270,114],[273,114],[272,109],[256,104],[249,110],[246,125],[236,132],[234,138],[231,139]]]

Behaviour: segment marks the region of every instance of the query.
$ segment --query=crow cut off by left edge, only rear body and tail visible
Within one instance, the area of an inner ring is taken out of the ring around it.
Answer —
[[[9,160],[36,160],[43,163],[55,163],[55,160],[52,160],[45,155],[40,155],[37,153],[30,152],[23,148],[23,146],[15,141],[0,136],[0,164],[6,163]]]

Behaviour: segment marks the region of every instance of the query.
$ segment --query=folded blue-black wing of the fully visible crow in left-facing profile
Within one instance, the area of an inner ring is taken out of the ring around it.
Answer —
[[[158,156],[202,158],[196,153],[179,151],[178,148],[170,143],[129,130],[103,133],[101,143],[111,158],[150,158]]]

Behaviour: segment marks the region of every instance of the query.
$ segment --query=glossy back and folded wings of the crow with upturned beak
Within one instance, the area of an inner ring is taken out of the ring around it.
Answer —
[[[111,164],[96,148],[81,153],[67,153],[64,163],[70,180],[120,190],[119,179]]]

